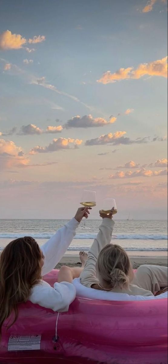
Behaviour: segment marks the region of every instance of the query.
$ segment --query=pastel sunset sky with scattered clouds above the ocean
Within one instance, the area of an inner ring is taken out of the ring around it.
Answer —
[[[1,0],[0,218],[167,218],[167,1]]]

